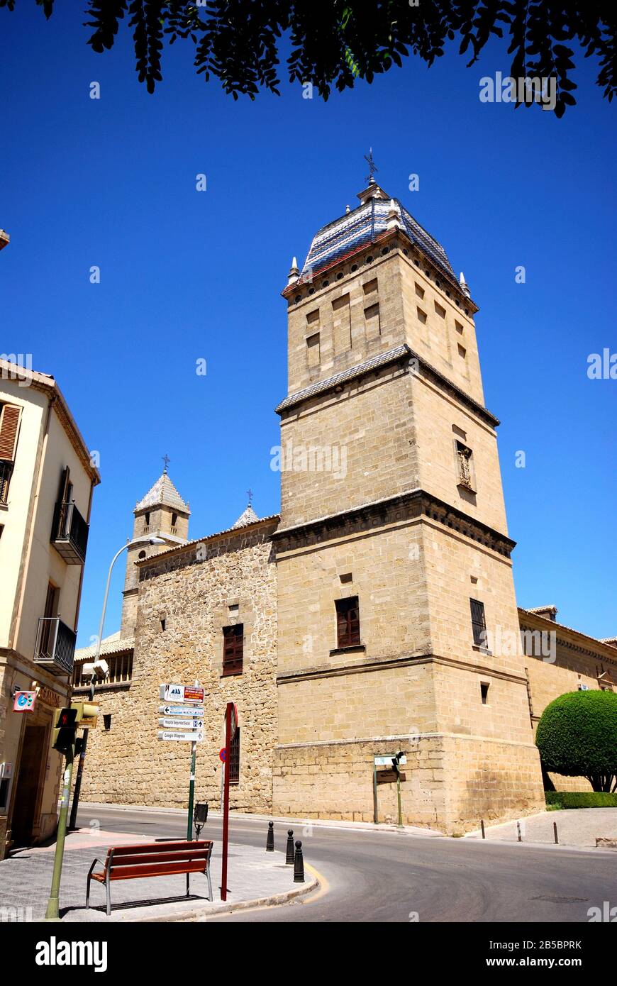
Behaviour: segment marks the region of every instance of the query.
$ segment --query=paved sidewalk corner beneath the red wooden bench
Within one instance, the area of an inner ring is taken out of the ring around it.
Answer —
[[[305,882],[294,882],[294,868],[286,866],[285,854],[266,853],[265,849],[230,844],[228,899],[221,901],[221,843],[212,853],[214,900],[207,899],[208,885],[203,874],[190,879],[190,897],[186,897],[184,875],[148,880],[118,880],[111,883],[111,915],[105,914],[104,886],[93,880],[90,909],[86,910],[86,878],[90,866],[107,848],[137,845],[170,839],[127,835],[126,832],[78,829],[67,835],[62,882],[60,917],[63,922],[105,921],[195,921],[207,920],[211,914],[240,907],[285,903],[308,893],[317,885],[316,874],[305,864]],[[0,922],[40,921],[44,917],[51,885],[55,843],[22,849],[0,862]]]

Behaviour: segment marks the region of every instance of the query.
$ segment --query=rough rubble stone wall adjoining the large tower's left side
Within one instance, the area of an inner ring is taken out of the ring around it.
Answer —
[[[127,691],[101,696],[91,731],[85,801],[183,807],[190,743],[157,740],[159,686],[205,687],[204,740],[197,748],[195,797],[219,805],[223,718],[238,705],[240,783],[232,807],[271,808],[276,742],[276,569],[269,537],[275,523],[230,531],[149,560],[140,568],[133,678]],[[202,560],[198,559],[198,554]],[[230,606],[238,606],[230,611]],[[165,629],[162,626],[165,620]],[[243,623],[243,670],[223,676],[223,627]],[[111,729],[103,712],[112,711]]]

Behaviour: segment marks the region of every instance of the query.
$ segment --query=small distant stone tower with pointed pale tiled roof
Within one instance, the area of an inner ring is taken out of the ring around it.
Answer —
[[[137,591],[139,572],[136,561],[185,544],[188,540],[190,510],[168,475],[167,465],[154,486],[139,501],[133,511],[133,537],[160,537],[163,544],[135,544],[126,552],[126,575],[122,593],[122,624],[120,637],[133,637],[137,622]]]

